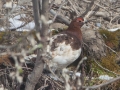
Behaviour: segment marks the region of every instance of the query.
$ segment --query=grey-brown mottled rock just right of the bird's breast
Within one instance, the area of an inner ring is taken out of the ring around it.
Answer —
[[[83,46],[85,53],[88,53],[96,59],[100,59],[102,56],[106,55],[104,40],[97,30],[83,28],[82,34],[83,42],[85,43]]]

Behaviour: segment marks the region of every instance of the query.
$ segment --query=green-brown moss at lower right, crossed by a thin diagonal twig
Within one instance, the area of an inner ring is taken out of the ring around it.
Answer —
[[[116,72],[117,74],[120,74],[119,69],[120,67],[115,62],[116,55],[115,54],[107,54],[106,57],[103,57],[101,61],[97,61],[99,65],[101,65],[104,68],[107,68],[110,71]],[[98,64],[91,58],[87,60],[85,65],[85,71],[87,75],[92,74],[93,77],[98,77],[100,75],[109,75],[114,77],[115,74],[108,72],[98,66]]]

